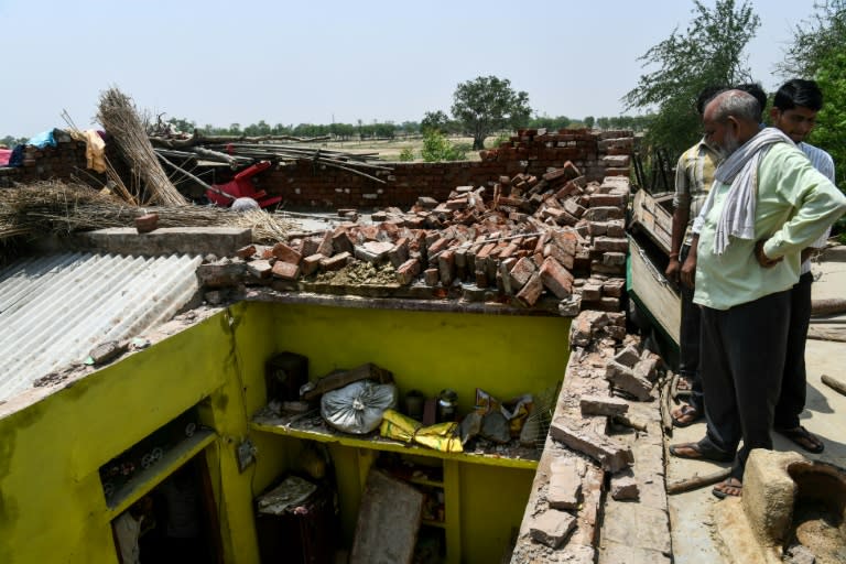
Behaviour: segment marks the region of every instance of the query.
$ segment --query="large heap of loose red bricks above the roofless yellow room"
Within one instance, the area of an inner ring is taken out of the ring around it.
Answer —
[[[372,224],[347,223],[294,234],[273,247],[251,246],[240,252],[245,281],[296,290],[318,274],[326,280],[326,273],[365,262],[392,265],[392,286],[442,290],[431,292],[434,297],[471,286],[485,290],[487,300],[495,294],[528,307],[551,294],[571,315],[582,307],[619,310],[627,177],[588,183],[567,162],[540,177],[501,176],[486,192],[459,186],[446,202],[421,197],[408,212],[373,214]],[[213,267],[206,265],[209,272]]]

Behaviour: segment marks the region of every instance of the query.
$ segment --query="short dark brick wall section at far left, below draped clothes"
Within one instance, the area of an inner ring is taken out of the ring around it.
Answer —
[[[70,180],[84,176],[86,170],[85,141],[75,141],[62,130],[54,130],[56,147],[26,145],[22,166],[0,167],[0,187],[11,187],[17,183],[29,184],[46,180]],[[89,171],[90,172],[90,171]]]

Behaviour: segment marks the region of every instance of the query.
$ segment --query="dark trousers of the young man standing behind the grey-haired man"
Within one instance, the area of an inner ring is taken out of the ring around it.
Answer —
[[[781,379],[781,395],[776,404],[776,429],[795,429],[799,414],[805,409],[807,376],[805,373],[805,340],[811,322],[811,284],[814,276],[806,272],[790,291],[790,329]]]

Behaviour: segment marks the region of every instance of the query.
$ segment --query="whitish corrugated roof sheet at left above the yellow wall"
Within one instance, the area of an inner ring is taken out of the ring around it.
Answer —
[[[0,270],[0,400],[97,345],[170,319],[198,290],[202,258],[64,253]]]

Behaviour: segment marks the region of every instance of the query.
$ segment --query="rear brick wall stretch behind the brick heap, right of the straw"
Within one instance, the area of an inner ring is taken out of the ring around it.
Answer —
[[[447,199],[456,186],[492,187],[502,175],[541,176],[567,161],[588,182],[628,176],[633,141],[630,131],[521,130],[498,149],[481,151],[480,162],[386,163],[392,171],[373,174],[383,184],[302,160],[260,175],[257,187],[281,195],[290,208],[408,207],[421,196]]]

